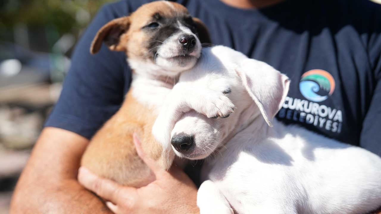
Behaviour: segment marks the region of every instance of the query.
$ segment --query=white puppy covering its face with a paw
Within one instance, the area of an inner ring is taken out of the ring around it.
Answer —
[[[289,84],[223,46],[205,48],[181,75],[152,131],[179,157],[208,157],[197,196],[202,214],[362,214],[381,206],[381,158],[272,121]]]

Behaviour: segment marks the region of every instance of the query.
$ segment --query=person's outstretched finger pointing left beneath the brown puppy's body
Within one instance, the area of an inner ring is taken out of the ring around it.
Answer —
[[[134,198],[136,195],[136,188],[124,187],[112,180],[102,179],[84,167],[78,170],[78,181],[87,189],[114,204],[118,204],[120,200],[126,200],[125,195],[129,198]]]

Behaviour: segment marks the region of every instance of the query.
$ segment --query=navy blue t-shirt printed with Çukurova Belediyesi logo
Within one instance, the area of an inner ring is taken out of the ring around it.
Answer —
[[[96,32],[149,0],[102,7],[78,43],[46,126],[93,134],[120,107],[131,82],[125,54]],[[243,10],[219,0],[177,0],[208,27],[213,44],[258,59],[291,79],[277,118],[381,155],[381,6],[368,0],[285,0]]]

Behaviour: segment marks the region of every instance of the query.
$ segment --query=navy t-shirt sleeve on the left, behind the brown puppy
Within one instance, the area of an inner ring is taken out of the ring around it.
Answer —
[[[125,53],[110,51],[103,45],[97,54],[91,55],[90,44],[104,24],[128,13],[123,2],[99,10],[75,48],[62,93],[45,126],[90,139],[119,109],[131,78]]]

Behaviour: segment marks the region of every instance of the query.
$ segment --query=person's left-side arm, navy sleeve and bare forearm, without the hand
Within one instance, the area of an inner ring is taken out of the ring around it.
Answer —
[[[11,213],[109,212],[76,176],[88,139],[119,109],[129,87],[124,53],[102,47],[90,54],[96,32],[128,14],[128,2],[103,6],[78,42],[59,101],[18,181]]]

